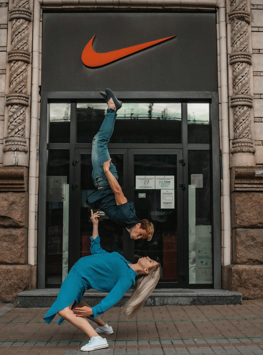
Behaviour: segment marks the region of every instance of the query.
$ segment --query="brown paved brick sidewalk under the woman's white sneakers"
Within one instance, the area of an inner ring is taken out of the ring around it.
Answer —
[[[128,322],[121,310],[114,307],[104,313],[114,334],[107,335],[109,348],[92,355],[263,355],[263,300],[226,306],[144,307]],[[46,312],[47,308],[0,304],[0,355],[85,354],[80,348],[88,342],[87,336],[66,321],[61,326],[45,323]]]

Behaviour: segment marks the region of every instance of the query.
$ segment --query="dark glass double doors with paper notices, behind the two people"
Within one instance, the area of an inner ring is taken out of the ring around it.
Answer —
[[[139,219],[150,220],[155,227],[151,241],[130,239],[121,226],[101,213],[99,234],[103,249],[117,251],[136,262],[141,256],[159,261],[162,274],[159,287],[182,284],[180,255],[183,248],[183,168],[180,149],[109,149],[116,165],[124,195],[135,203]],[[71,263],[90,255],[92,223],[85,200],[95,190],[91,177],[91,149],[75,151],[74,237],[70,242]],[[73,255],[75,255],[73,257]]]

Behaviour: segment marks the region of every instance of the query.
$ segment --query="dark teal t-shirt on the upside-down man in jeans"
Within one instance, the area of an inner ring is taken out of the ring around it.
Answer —
[[[86,204],[91,209],[101,209],[113,222],[124,228],[131,228],[139,222],[135,214],[134,203],[127,201],[117,206],[114,193],[109,186],[92,192]]]

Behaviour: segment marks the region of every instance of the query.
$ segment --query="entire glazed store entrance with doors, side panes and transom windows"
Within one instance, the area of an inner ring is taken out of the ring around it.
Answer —
[[[154,223],[155,233],[150,242],[134,242],[125,229],[102,216],[103,247],[123,253],[131,262],[136,261],[136,255],[159,260],[159,287],[164,288],[188,286],[182,283],[183,279],[188,282],[188,272],[190,287],[209,287],[214,278],[217,288],[221,283],[219,133],[218,120],[212,120],[218,119],[218,97],[212,94],[212,103],[209,95],[203,102],[196,98],[199,94],[183,103],[172,102],[173,99],[155,102],[149,98],[133,102],[127,98],[125,107],[118,112],[109,144],[124,195],[135,203],[139,219]],[[46,96],[44,99],[47,103]],[[45,263],[45,268],[38,268],[39,287],[59,287],[67,266],[70,268],[90,252],[92,226],[85,199],[95,188],[91,178],[91,142],[105,114],[105,104],[93,99],[94,102],[50,100],[42,120],[48,162],[42,147],[39,211],[46,218],[38,220],[38,261]],[[186,162],[184,168],[179,162],[182,158]],[[46,175],[47,180],[43,179]],[[154,189],[140,186],[136,176],[154,176],[144,179],[149,180],[147,184],[154,181]],[[174,176],[174,187],[157,189],[156,181],[160,180],[156,176],[164,181],[165,177]],[[66,188],[64,200],[59,183]],[[182,183],[185,187],[179,186]],[[165,189],[172,191],[164,192]],[[45,201],[46,209],[42,206]]]

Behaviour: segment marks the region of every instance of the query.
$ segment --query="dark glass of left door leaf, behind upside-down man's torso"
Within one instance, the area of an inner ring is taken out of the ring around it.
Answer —
[[[112,149],[110,153],[112,162],[119,174],[119,184],[125,192],[127,191],[127,184],[124,182],[124,163],[125,160],[127,161],[127,149]],[[72,262],[83,256],[90,255],[90,236],[92,235],[91,211],[86,205],[85,200],[91,192],[95,191],[91,176],[91,149],[77,149],[75,150],[75,157],[77,160],[74,174],[76,181],[74,189],[75,247],[72,250],[75,257],[74,259],[72,258]],[[123,242],[123,233],[127,232],[121,226],[112,222],[103,211],[101,211],[99,221],[99,234],[103,249],[108,252],[117,251],[124,255],[125,242]],[[127,247],[125,247],[126,249]]]

